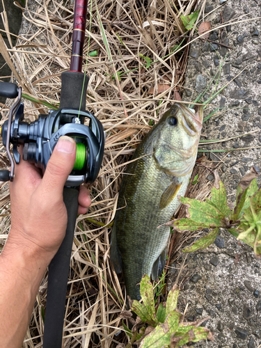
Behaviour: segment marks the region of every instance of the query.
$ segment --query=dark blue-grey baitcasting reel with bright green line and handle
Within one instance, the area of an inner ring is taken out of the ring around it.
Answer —
[[[104,153],[104,129],[95,116],[88,111],[65,107],[50,110],[48,115],[40,114],[38,120],[29,124],[23,122],[24,104],[20,103],[22,88],[18,88],[16,84],[0,82],[0,95],[17,97],[8,120],[0,127],[3,145],[6,146],[11,164],[10,171],[0,171],[0,181],[14,179],[13,157],[16,164],[20,161],[17,145],[24,145],[23,159],[35,164],[44,173],[54,147],[63,135],[72,137],[77,143],[74,168],[65,186],[77,187],[83,182],[95,181]],[[85,118],[88,118],[88,126],[84,125]],[[13,157],[10,154],[10,143],[13,143]]]

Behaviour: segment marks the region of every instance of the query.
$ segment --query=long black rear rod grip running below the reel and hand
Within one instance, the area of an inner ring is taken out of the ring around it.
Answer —
[[[42,348],[61,348],[72,241],[78,211],[79,190],[65,188],[63,200],[68,213],[65,238],[49,264],[45,332]]]

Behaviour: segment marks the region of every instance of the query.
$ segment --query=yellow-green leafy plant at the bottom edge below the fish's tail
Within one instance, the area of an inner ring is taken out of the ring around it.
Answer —
[[[132,303],[132,311],[138,315],[136,321],[132,319],[134,326],[132,331],[124,325],[127,335],[131,338],[131,342],[139,343],[142,348],[158,348],[158,347],[181,347],[188,342],[198,342],[199,340],[213,340],[212,333],[209,329],[201,327],[200,324],[208,319],[202,319],[198,322],[183,322],[183,315],[177,310],[177,297],[179,290],[177,285],[168,293],[165,303],[160,303],[157,311],[152,283],[149,276],[143,276],[141,280],[141,299],[143,303],[134,300]],[[128,313],[128,315],[127,315]],[[125,317],[129,317],[129,312],[125,313]],[[147,327],[138,325],[148,324]],[[130,347],[130,345],[127,345]],[[126,347],[126,348],[127,348]]]

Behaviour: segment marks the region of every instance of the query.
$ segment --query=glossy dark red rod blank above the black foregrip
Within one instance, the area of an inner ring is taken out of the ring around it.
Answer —
[[[81,72],[88,0],[75,0],[70,71]]]

